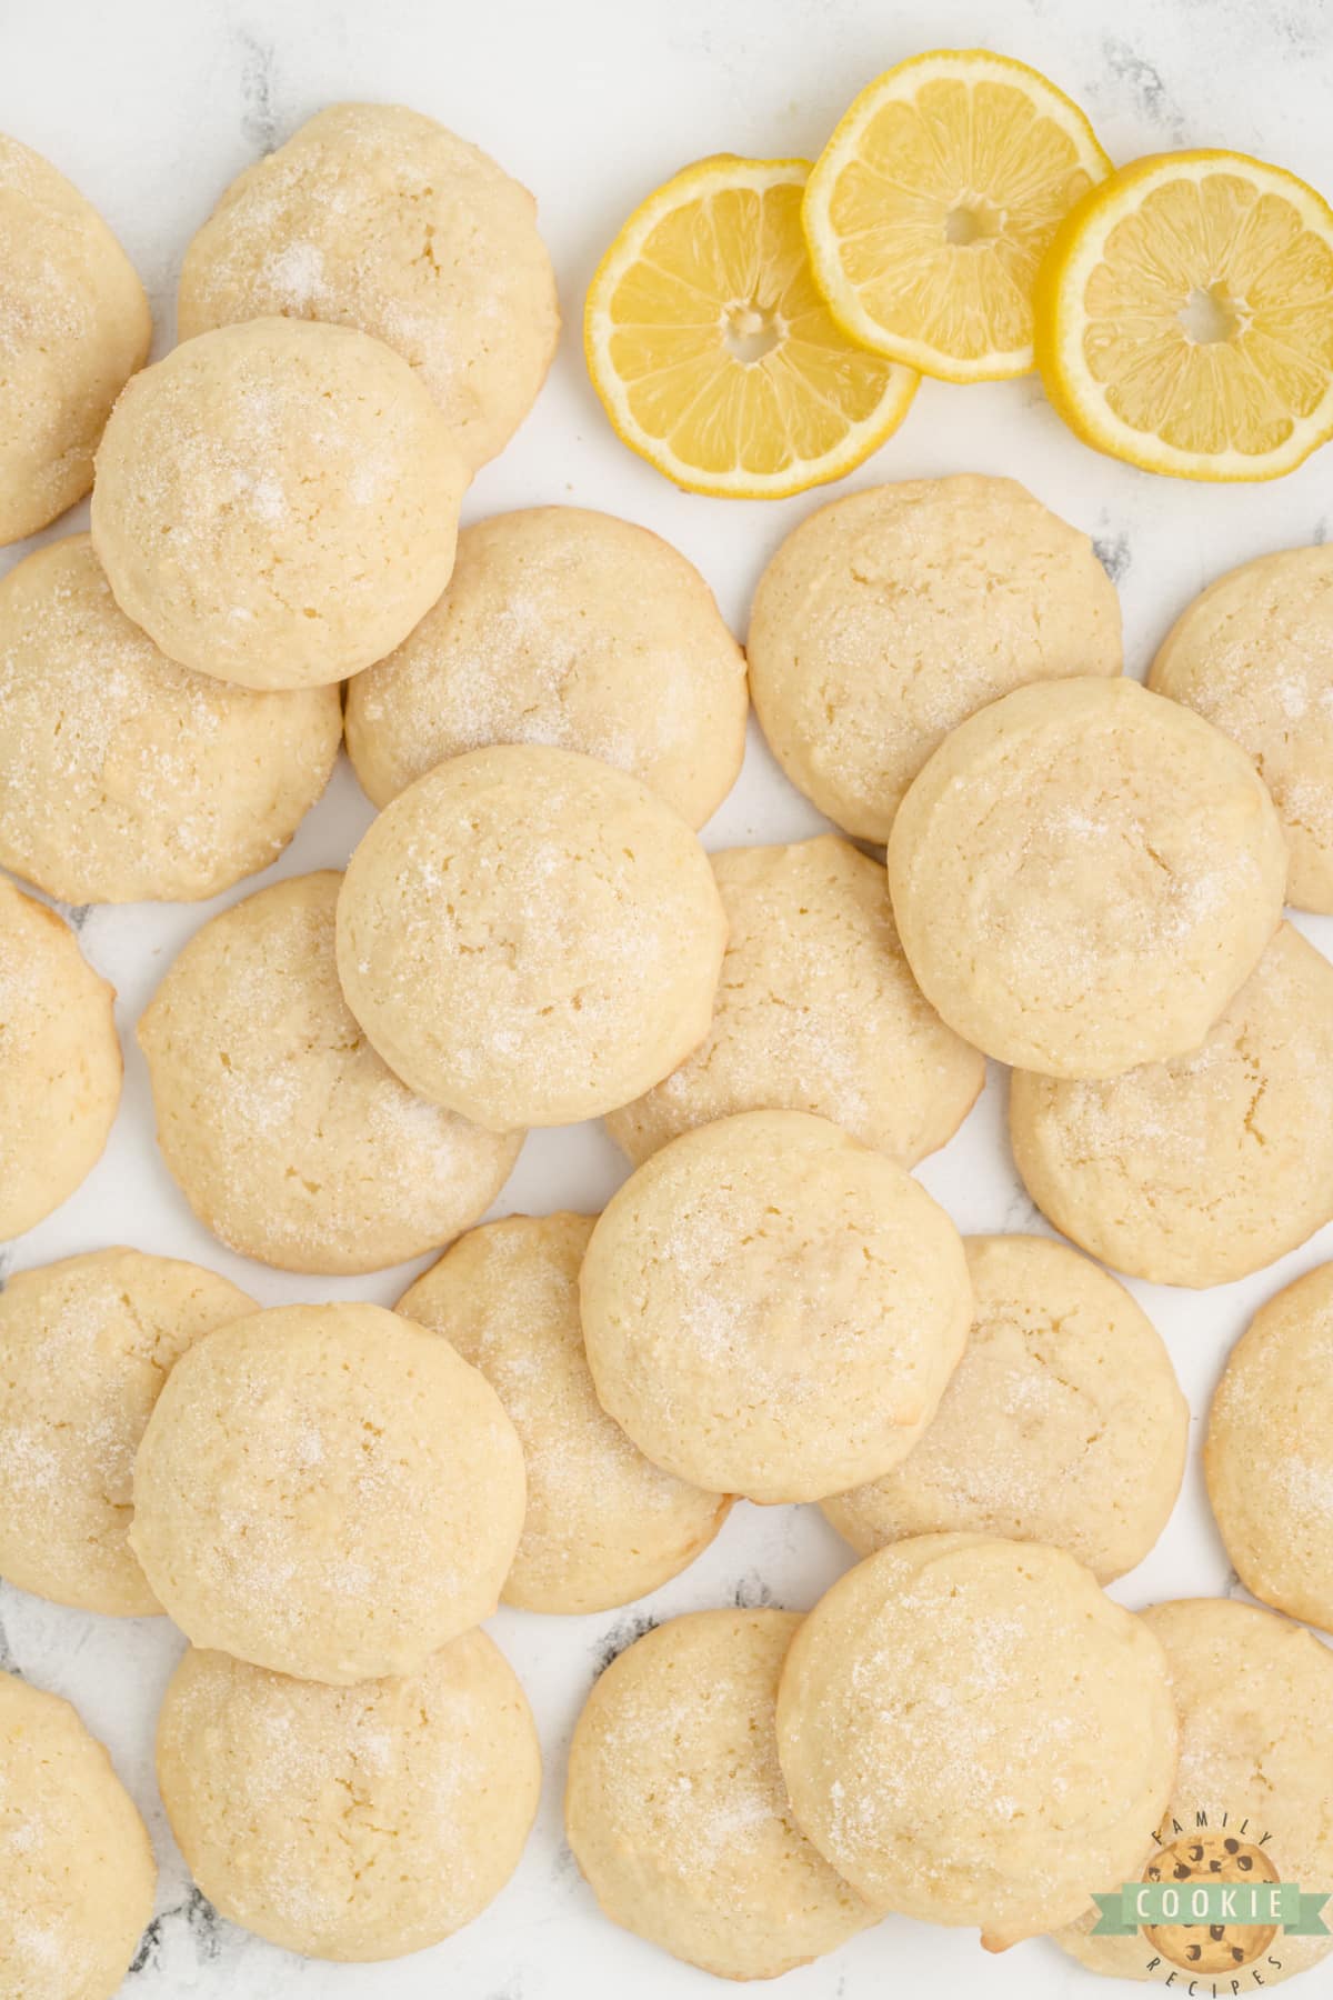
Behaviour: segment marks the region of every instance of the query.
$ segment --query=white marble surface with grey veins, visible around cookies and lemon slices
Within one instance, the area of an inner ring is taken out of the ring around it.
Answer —
[[[1275,158],[1333,192],[1327,0],[0,0],[0,128],[48,154],[106,212],[154,300],[156,350],[190,232],[256,152],[322,104],[402,100],[492,150],[538,194],[560,274],[566,336],[542,402],[478,478],[470,518],[578,502],[642,520],[707,574],[743,630],[753,580],[813,500],[731,504],[673,492],[610,434],[580,352],[582,296],[628,208],[689,158],[731,150],[813,154],[851,94],[927,46],[985,44],[1047,70],[1089,110],[1117,160],[1181,144]],[[1087,528],[1115,576],[1129,670],[1141,674],[1175,612],[1219,570],[1263,550],[1323,540],[1333,448],[1275,486],[1153,480],[1069,438],[1033,380],[955,390],[923,384],[907,424],[853,484],[957,470],[1009,472]],[[84,524],[84,510],[54,532]],[[24,550],[0,554],[0,568]],[[346,764],[270,876],[340,866],[370,820]],[[757,738],[707,828],[709,846],[795,838],[817,816]],[[270,876],[258,878],[260,882]],[[22,1242],[24,1268],[106,1242],[210,1262],[264,1304],[360,1296],[390,1304],[410,1272],[288,1278],[230,1256],[192,1220],[154,1150],[134,1020],[200,920],[248,888],[194,908],[78,912],[94,964],[120,992],[126,1096],[110,1150],[84,1188]],[[1333,922],[1301,920],[1333,952]],[[596,1128],[530,1140],[500,1208],[598,1206],[624,1168]],[[963,1230],[1029,1228],[1033,1212],[1003,1142],[1003,1084],[921,1172]],[[1171,1344],[1195,1432],[1231,1340],[1255,1304],[1323,1258],[1333,1228],[1269,1272],[1205,1296],[1137,1286]],[[1197,1442],[1197,1440],[1195,1440]],[[2,1448],[2,1446],[0,1446]],[[496,1638],[532,1694],[546,1796],[524,1864],[478,1924],[418,1958],[342,1968],[302,1962],[220,1922],[192,1892],[152,1778],[152,1728],[180,1638],[164,1620],[80,1616],[0,1586],[0,1664],[68,1694],[144,1808],[162,1858],[158,1918],[126,1980],[128,2000],[564,2000],[634,1986],[644,2000],[703,1996],[711,1982],[604,1924],[562,1842],[570,1728],[600,1664],[650,1618],[717,1602],[807,1606],[847,1562],[811,1508],[739,1506],[715,1546],[642,1606],[598,1618],[504,1612]],[[1235,1588],[1203,1500],[1197,1450],[1153,1556],[1117,1596]],[[1329,1992],[1329,1968],[1301,1988]],[[903,1920],[789,1974],[791,2000],[945,2000],[1095,1994],[1053,1946],[985,1958],[973,1934]]]

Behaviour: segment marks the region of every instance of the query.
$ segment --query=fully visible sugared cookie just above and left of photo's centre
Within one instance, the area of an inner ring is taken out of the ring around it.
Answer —
[[[727,924],[703,848],[574,750],[472,750],[386,806],[338,898],[348,1006],[412,1090],[490,1130],[574,1124],[707,1034]]]

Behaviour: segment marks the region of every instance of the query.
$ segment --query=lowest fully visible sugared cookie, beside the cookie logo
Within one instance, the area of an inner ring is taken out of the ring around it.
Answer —
[[[893,1542],[803,1622],[777,1690],[797,1824],[869,1902],[989,1950],[1127,1880],[1175,1778],[1161,1646],[1063,1550]]]

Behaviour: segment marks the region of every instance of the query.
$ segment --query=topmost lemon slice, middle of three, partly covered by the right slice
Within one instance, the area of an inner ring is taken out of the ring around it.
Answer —
[[[1039,70],[983,48],[913,56],[859,94],[809,174],[819,290],[853,340],[921,374],[1025,374],[1037,264],[1109,172]]]

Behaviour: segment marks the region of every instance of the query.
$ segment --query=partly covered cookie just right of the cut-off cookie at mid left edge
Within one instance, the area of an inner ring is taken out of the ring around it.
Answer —
[[[340,884],[292,876],[210,918],[138,1024],[182,1194],[282,1270],[382,1270],[450,1242],[524,1144],[416,1098],[376,1056],[338,984]]]

